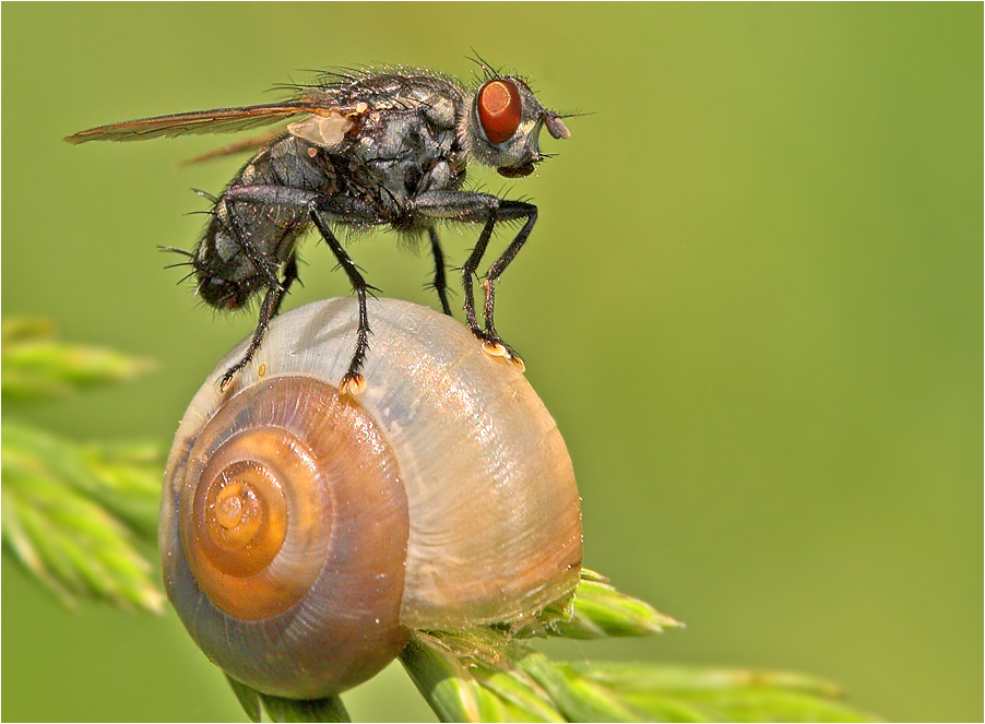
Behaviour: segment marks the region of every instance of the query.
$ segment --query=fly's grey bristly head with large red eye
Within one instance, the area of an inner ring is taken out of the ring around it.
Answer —
[[[541,105],[519,78],[494,78],[476,92],[460,133],[472,157],[500,176],[529,176],[541,154],[541,128],[556,139],[570,132],[561,117]]]

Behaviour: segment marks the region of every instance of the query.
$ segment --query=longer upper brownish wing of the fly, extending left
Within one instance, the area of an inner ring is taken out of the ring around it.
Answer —
[[[327,93],[311,93],[307,97],[284,103],[270,103],[242,108],[215,108],[188,114],[171,114],[140,118],[120,123],[98,126],[66,138],[72,144],[86,141],[143,141],[161,137],[174,138],[192,133],[234,133],[258,126],[268,126],[295,116],[322,118],[345,116],[351,108],[339,107]]]

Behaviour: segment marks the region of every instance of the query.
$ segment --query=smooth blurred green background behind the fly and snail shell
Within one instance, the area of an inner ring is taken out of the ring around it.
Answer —
[[[685,620],[578,658],[803,670],[892,720],[981,720],[983,8],[969,4],[10,4],[2,10],[3,314],[159,360],[20,412],[169,441],[253,325],[176,284],[238,159],[226,139],[72,147],[110,121],[272,100],[304,69],[468,76],[474,48],[591,111],[537,176],[498,295],[563,432],[585,563]],[[475,228],[447,232],[461,263]],[[499,244],[503,244],[502,236]],[[435,304],[427,254],[351,247]],[[347,294],[305,248],[287,307]],[[461,295],[456,297],[461,301]],[[68,613],[4,557],[5,720],[242,720],[174,615]],[[402,672],[357,719],[427,719]]]

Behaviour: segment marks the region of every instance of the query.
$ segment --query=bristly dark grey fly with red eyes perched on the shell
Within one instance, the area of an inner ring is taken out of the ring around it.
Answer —
[[[465,319],[486,352],[522,368],[522,360],[496,331],[496,281],[515,258],[537,219],[525,201],[464,190],[470,163],[491,166],[506,178],[529,176],[545,158],[539,133],[566,139],[562,116],[546,109],[526,82],[483,63],[484,79],[467,88],[428,70],[383,67],[333,71],[309,84],[289,86],[282,103],[198,110],[99,126],[66,139],[141,141],[190,133],[225,133],[289,120],[285,128],[240,141],[195,159],[253,152],[212,203],[209,223],[191,252],[198,294],[219,309],[236,309],[264,292],[260,316],[242,357],[226,370],[225,389],[253,358],[271,319],[297,280],[298,240],[313,227],[348,276],[358,297],[356,347],[341,391],[366,388],[360,373],[369,349],[367,293],[376,290],[335,236],[336,227],[387,225],[430,241],[434,287],[441,309],[448,301],[442,222],[482,224],[462,266]],[[207,195],[207,194],[203,194]],[[483,277],[484,325],[476,319],[473,278],[499,222],[522,222],[519,233]]]

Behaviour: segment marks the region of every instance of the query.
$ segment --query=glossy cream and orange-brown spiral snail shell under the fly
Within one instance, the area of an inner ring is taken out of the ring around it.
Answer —
[[[371,302],[369,385],[341,396],[354,300],[278,317],[233,387],[221,361],[165,478],[165,586],[205,654],[272,695],[373,676],[415,629],[514,622],[568,596],[581,512],[524,377],[451,318]]]

